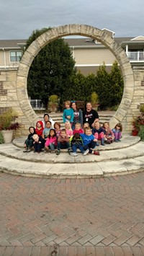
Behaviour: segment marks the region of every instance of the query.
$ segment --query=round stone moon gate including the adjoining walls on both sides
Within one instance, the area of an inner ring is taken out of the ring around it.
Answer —
[[[116,43],[114,38],[110,37],[107,32],[99,30],[96,27],[89,25],[64,25],[55,27],[47,32],[44,32],[40,37],[27,48],[22,56],[17,71],[5,71],[3,74],[4,80],[3,89],[7,89],[7,95],[1,96],[0,107],[12,107],[17,111],[17,121],[22,123],[22,131],[20,134],[27,134],[27,129],[30,125],[34,125],[37,121],[37,115],[30,105],[30,100],[27,95],[27,76],[37,53],[48,43],[59,37],[67,35],[81,35],[91,37],[105,45],[117,59],[124,79],[124,91],[120,106],[115,115],[110,120],[110,125],[113,127],[116,123],[121,122],[124,131],[130,132],[132,128],[132,118],[140,114],[140,104],[144,104],[144,69],[143,67],[133,67],[125,54],[125,51]],[[7,72],[7,73],[6,73]],[[5,75],[4,75],[5,74]],[[9,83],[12,81],[12,85]]]

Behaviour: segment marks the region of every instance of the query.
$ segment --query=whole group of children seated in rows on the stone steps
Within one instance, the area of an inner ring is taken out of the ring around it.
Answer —
[[[53,127],[54,126],[54,127]],[[81,151],[84,156],[86,154],[99,155],[99,151],[96,151],[96,146],[111,144],[113,141],[119,142],[122,137],[122,125],[117,123],[113,129],[109,127],[108,122],[104,122],[101,126],[99,121],[94,122],[94,127],[91,129],[89,123],[84,123],[81,128],[80,123],[76,123],[74,130],[71,128],[71,123],[66,120],[65,128],[60,128],[60,123],[52,123],[48,120],[43,127],[42,121],[38,121],[36,128],[30,127],[30,134],[28,135],[24,146],[24,152],[30,152],[34,149],[34,152],[40,153],[44,149],[44,153],[50,151],[50,153],[60,154],[60,149],[68,149],[68,153],[71,156],[77,156],[77,149]]]

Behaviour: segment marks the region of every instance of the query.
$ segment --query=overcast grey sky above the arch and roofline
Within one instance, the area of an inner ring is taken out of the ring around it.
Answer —
[[[0,0],[0,40],[67,24],[107,28],[115,37],[144,36],[143,6],[144,0]]]

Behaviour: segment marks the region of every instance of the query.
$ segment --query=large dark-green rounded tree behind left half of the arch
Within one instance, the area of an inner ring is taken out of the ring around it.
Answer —
[[[43,32],[51,28],[35,30],[27,40],[27,47]],[[26,47],[26,48],[27,48]],[[75,72],[75,61],[68,43],[59,38],[46,45],[37,54],[27,79],[27,92],[32,99],[40,99],[45,107],[51,94],[63,95],[70,76]]]

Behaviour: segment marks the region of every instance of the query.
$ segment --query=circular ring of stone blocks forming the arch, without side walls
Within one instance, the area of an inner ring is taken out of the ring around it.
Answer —
[[[58,39],[59,37],[65,37],[67,35],[91,37],[92,39],[98,40],[100,43],[105,45],[114,54],[122,71],[122,76],[124,79],[124,91],[120,106],[117,112],[115,112],[114,116],[110,119],[110,124],[115,125],[115,123],[122,122],[127,115],[128,110],[130,110],[134,92],[133,71],[130,61],[125,54],[125,50],[123,50],[121,46],[117,44],[114,38],[103,30],[99,30],[98,28],[91,27],[89,25],[70,24],[54,27],[51,30],[44,32],[32,42],[22,56],[19,63],[19,69],[17,71],[17,97],[23,113],[22,115],[24,116],[24,119],[27,120],[26,123],[32,124],[35,123],[35,120],[37,120],[37,115],[30,105],[30,100],[27,94],[27,76],[32,61],[34,60],[35,56],[37,56],[37,53],[39,53],[40,50],[45,47],[45,45]]]

